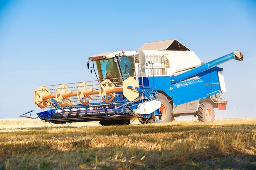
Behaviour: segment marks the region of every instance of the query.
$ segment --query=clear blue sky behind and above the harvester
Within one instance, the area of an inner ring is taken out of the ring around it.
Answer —
[[[209,62],[240,50],[224,68],[227,110],[256,117],[256,0],[0,0],[0,119],[29,110],[43,85],[94,80],[90,55],[177,39]]]

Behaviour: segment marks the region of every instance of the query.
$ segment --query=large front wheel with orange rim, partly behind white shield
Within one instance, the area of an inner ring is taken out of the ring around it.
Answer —
[[[144,121],[144,123],[167,123],[174,121],[173,114],[173,106],[170,104],[170,100],[162,93],[157,93],[159,101],[162,102],[161,107],[159,108],[161,111],[161,119],[157,120],[159,117],[155,117],[156,120],[149,119]]]

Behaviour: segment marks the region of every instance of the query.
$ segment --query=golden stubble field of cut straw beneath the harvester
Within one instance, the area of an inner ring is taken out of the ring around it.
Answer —
[[[255,170],[256,118],[51,126],[0,119],[0,170]]]

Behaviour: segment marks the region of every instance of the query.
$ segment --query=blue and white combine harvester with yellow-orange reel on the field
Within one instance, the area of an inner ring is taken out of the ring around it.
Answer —
[[[214,121],[214,110],[225,110],[223,68],[217,65],[244,55],[235,51],[204,64],[179,41],[146,43],[138,51],[116,51],[89,57],[97,80],[41,86],[34,103],[45,111],[42,121],[65,124],[99,121],[104,125],[164,123],[182,115]],[[33,110],[20,115],[29,117]],[[30,115],[28,115],[30,114]]]

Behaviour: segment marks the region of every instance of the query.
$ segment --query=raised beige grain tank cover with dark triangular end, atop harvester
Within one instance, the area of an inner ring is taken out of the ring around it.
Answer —
[[[145,43],[139,51],[141,50],[170,50],[170,51],[190,51],[190,49],[184,46],[176,39],[164,40],[157,42],[148,42]]]

